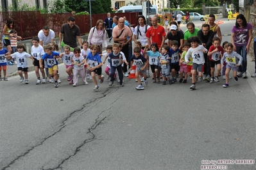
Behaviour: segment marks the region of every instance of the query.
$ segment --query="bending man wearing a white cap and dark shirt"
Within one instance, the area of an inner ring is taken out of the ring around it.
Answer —
[[[178,30],[176,25],[171,25],[171,31],[167,33],[166,39],[168,38],[168,45],[171,47],[171,41],[176,40],[178,42],[178,49],[182,50],[182,45],[184,43],[184,35],[182,31]]]

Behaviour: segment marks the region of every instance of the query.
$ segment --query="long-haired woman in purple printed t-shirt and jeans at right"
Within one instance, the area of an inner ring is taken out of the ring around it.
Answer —
[[[252,41],[252,24],[247,23],[243,14],[237,15],[235,25],[231,30],[231,43],[234,45],[234,50],[243,58],[242,65],[239,66],[237,73],[238,77],[247,78],[247,52],[250,50]]]

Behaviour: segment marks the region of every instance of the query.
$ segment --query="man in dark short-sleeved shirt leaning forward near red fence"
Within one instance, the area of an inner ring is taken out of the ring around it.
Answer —
[[[73,47],[73,48],[78,47],[76,43],[76,39],[77,39],[80,47],[82,46],[80,29],[78,26],[76,26],[74,17],[69,17],[67,19],[67,23],[63,24],[62,27],[60,27],[60,33],[58,34],[60,43],[62,42],[62,35],[64,35],[63,42],[66,45],[69,45],[70,47]]]

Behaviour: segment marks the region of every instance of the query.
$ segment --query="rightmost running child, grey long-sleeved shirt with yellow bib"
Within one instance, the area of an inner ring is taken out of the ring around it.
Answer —
[[[232,43],[226,43],[225,49],[226,52],[223,54],[223,58],[221,58],[221,64],[223,65],[225,59],[226,59],[226,84],[223,85],[223,88],[228,88],[228,75],[230,70],[233,70],[233,76],[235,78],[235,81],[238,81],[237,77],[237,71],[239,69],[239,66],[241,66],[241,63],[243,61],[243,58],[237,54],[237,52],[234,52]],[[239,61],[238,61],[239,59]]]

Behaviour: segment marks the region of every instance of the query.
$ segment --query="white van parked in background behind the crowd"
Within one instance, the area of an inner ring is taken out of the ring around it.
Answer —
[[[154,17],[158,14],[157,5],[152,5],[151,12],[149,12],[150,17]],[[122,6],[117,10],[115,13],[124,13],[124,12],[139,12],[139,15],[142,15],[142,5],[128,5],[128,6]]]

